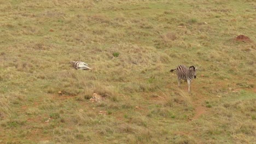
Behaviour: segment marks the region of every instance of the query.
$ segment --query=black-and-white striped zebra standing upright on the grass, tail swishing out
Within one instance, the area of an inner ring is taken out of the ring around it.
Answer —
[[[176,70],[176,74],[178,76],[178,86],[180,86],[180,81],[187,80],[188,81],[188,92],[190,93],[190,83],[193,78],[196,79],[196,67],[193,65],[187,68],[185,65],[178,65],[176,69],[170,70],[171,72]]]

